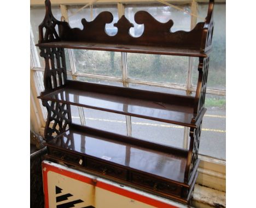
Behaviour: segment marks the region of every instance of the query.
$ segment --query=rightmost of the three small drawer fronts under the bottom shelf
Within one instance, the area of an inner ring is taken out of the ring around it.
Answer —
[[[164,180],[154,179],[150,176],[132,173],[131,180],[137,185],[153,189],[154,191],[181,196],[182,186]]]

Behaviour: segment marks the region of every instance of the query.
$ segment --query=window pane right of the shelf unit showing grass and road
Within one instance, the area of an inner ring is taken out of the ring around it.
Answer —
[[[206,95],[199,154],[226,158],[226,97]]]

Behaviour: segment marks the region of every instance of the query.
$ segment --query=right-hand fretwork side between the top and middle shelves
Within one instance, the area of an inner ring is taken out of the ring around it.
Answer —
[[[209,57],[199,58],[199,66],[198,66],[199,77],[197,82],[197,90],[196,90],[196,96],[195,96],[196,102],[194,107],[195,116],[205,106],[209,59],[210,59]]]

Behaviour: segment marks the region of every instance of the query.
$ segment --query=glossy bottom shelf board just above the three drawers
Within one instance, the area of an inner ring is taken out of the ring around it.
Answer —
[[[144,143],[143,148],[140,143]],[[119,168],[184,183],[188,150],[74,124],[46,145]]]

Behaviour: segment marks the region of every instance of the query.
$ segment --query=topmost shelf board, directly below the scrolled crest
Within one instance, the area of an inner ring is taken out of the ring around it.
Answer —
[[[126,44],[104,44],[100,42],[55,41],[37,44],[39,47],[61,47],[98,51],[116,51],[129,53],[148,53],[173,56],[207,57],[208,53],[202,53],[199,49],[176,48],[164,46],[144,46]]]

